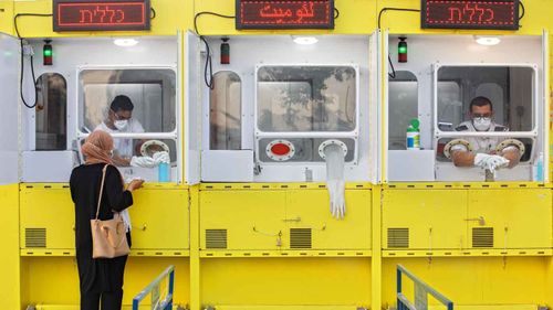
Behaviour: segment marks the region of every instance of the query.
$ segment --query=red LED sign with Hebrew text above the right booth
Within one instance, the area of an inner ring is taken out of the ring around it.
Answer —
[[[519,0],[422,0],[421,28],[519,29]]]

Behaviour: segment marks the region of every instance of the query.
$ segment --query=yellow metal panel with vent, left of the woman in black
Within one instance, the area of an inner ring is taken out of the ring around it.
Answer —
[[[35,228],[45,229],[48,249],[75,247],[75,212],[69,186],[22,184],[20,201],[21,248],[28,248],[25,233],[31,236]]]

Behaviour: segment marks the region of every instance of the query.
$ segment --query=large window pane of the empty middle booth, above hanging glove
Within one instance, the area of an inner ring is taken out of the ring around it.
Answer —
[[[258,71],[262,131],[352,131],[356,73],[349,66],[263,66]]]

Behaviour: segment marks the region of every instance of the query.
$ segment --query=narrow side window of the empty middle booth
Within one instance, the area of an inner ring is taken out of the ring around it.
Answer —
[[[209,93],[209,132],[211,150],[241,148],[241,82],[233,72],[213,75]]]

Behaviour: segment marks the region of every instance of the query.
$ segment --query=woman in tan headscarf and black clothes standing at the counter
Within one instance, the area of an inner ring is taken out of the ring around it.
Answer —
[[[71,197],[75,203],[75,248],[81,286],[81,310],[119,310],[123,299],[123,275],[127,256],[116,258],[92,258],[91,220],[96,217],[96,207],[105,174],[100,220],[113,218],[113,212],[122,212],[133,205],[132,192],[139,189],[144,181],[134,180],[124,189],[123,178],[113,165],[113,138],[109,133],[92,132],[81,150],[86,158],[85,164],[76,167],[71,173]],[[128,227],[127,227],[128,228]],[[128,229],[127,229],[128,232]],[[128,245],[131,235],[127,233]]]

